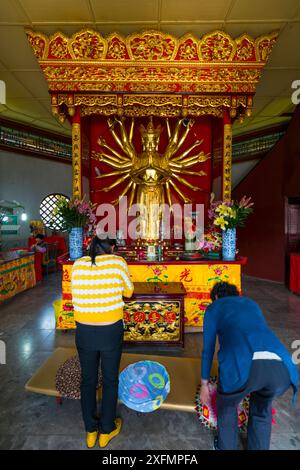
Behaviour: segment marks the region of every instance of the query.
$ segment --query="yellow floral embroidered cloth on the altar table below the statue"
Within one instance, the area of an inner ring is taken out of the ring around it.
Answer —
[[[181,282],[186,290],[184,299],[185,326],[202,327],[204,313],[211,303],[210,291],[218,281],[235,284],[241,291],[241,267],[247,263],[246,257],[236,261],[132,261],[128,262],[133,282],[155,282],[158,285]],[[56,328],[75,328],[71,269],[72,262],[63,264],[62,303],[56,312]]]

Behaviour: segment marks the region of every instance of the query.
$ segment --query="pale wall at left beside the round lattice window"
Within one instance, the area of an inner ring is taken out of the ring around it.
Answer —
[[[71,165],[0,150],[0,199],[20,202],[28,215],[18,236],[2,235],[3,248],[29,236],[29,221],[40,219],[40,203],[50,193],[72,195]]]

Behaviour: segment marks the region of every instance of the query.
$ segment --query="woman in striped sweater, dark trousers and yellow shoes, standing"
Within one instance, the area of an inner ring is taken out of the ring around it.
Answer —
[[[90,256],[76,260],[72,269],[76,347],[82,369],[81,407],[89,448],[95,446],[99,428],[99,445],[105,447],[122,426],[121,418],[116,418],[116,407],[123,296],[131,297],[133,284],[126,261],[112,254],[115,244],[115,240],[96,236],[90,245]],[[96,386],[100,358],[103,384],[99,422]]]

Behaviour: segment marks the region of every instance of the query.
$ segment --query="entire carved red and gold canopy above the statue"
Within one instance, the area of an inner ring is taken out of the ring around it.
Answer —
[[[222,31],[182,38],[145,31],[107,38],[86,29],[68,38],[27,30],[47,80],[53,112],[81,115],[250,115],[252,97],[277,38]]]

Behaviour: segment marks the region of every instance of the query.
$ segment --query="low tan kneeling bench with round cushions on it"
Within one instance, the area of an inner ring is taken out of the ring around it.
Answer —
[[[56,397],[58,402],[61,402],[61,396],[55,388],[56,372],[67,359],[74,355],[76,355],[75,348],[55,349],[51,356],[26,383],[25,390]],[[200,383],[200,358],[123,353],[120,371],[129,364],[143,360],[159,362],[166,367],[169,373],[171,391],[161,408],[190,412],[195,410],[195,395]],[[212,375],[217,375],[216,362],[213,363]],[[98,398],[100,396],[101,390]]]

